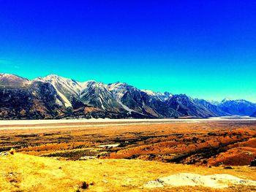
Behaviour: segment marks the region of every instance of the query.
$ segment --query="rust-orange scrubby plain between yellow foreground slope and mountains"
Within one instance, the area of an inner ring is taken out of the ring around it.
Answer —
[[[249,165],[256,156],[253,120],[144,123],[1,126],[0,152],[14,147],[62,160],[126,158],[203,166]]]

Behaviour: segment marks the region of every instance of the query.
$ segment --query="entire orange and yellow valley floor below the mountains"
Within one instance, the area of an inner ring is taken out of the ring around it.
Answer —
[[[255,119],[0,124],[1,191],[256,190],[255,167],[249,166],[256,156]],[[208,177],[217,178],[214,185]],[[184,178],[188,183],[178,183]]]

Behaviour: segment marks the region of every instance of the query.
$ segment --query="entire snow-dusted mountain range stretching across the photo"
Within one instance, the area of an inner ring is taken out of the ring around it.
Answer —
[[[28,80],[0,74],[0,119],[209,118],[256,116],[246,100],[221,102],[140,90],[124,82],[78,82],[56,74]]]

